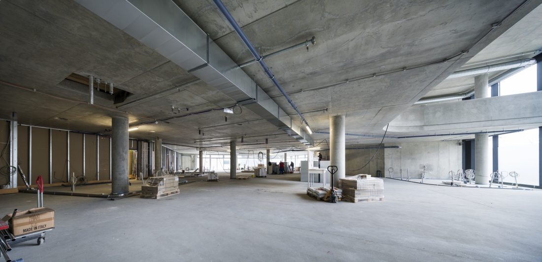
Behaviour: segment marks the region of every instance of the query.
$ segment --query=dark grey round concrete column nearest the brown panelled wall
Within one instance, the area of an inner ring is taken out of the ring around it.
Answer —
[[[128,193],[128,118],[111,119],[111,193]]]

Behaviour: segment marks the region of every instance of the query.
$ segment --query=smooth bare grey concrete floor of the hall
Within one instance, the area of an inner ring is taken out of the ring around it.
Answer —
[[[31,261],[540,261],[542,191],[385,179],[384,202],[309,198],[299,174],[179,186],[159,200],[44,196],[56,229]],[[35,207],[0,196],[0,214]]]

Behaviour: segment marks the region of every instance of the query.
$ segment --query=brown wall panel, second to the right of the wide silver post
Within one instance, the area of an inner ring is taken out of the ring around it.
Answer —
[[[32,180],[35,184],[42,176],[43,184],[49,181],[49,129],[32,127]]]

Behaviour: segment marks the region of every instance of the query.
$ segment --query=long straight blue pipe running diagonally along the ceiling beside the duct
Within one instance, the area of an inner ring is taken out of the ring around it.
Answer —
[[[244,34],[243,30],[241,29],[241,27],[237,24],[237,22],[235,21],[234,17],[231,16],[230,12],[228,11],[228,9],[226,8],[226,6],[224,6],[224,4],[222,3],[221,0],[212,0],[213,3],[215,3],[216,7],[218,8],[218,10],[220,10],[220,12],[222,13],[222,15],[224,15],[224,17],[226,18],[226,20],[228,20],[228,22],[230,23],[231,27],[234,28],[235,32],[237,33],[237,35],[241,38],[241,40],[244,42],[244,44],[247,46],[248,50],[252,53],[252,55],[254,56],[254,58],[256,59],[256,62],[259,62],[260,65],[262,66],[262,69],[263,69],[263,72],[265,72],[267,74],[267,76],[269,77],[269,79],[271,79],[273,81],[273,83],[275,84],[276,88],[279,89],[279,91],[282,93],[282,96],[286,97],[286,100],[288,100],[288,103],[290,103],[290,105],[292,105],[292,108],[294,108],[295,112],[298,112],[298,115],[301,117],[301,120],[303,120],[303,122],[305,122],[305,124],[307,126],[308,123],[307,123],[307,120],[305,119],[305,117],[303,117],[303,115],[301,114],[301,112],[299,111],[299,109],[297,108],[297,106],[295,106],[294,102],[292,102],[292,99],[290,99],[290,97],[288,96],[288,94],[286,93],[286,91],[284,91],[284,89],[282,89],[282,86],[280,86],[279,82],[277,82],[275,76],[273,75],[273,73],[269,70],[269,68],[267,67],[266,63],[263,62],[263,58],[260,56],[260,54],[258,53],[258,51],[256,51],[256,48],[254,48],[254,45],[252,43],[250,43],[250,40],[248,39],[247,35]],[[310,129],[310,127],[308,127]]]

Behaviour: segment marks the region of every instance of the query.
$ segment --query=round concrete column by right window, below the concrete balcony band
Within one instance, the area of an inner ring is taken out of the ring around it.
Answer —
[[[474,135],[474,166],[476,168],[476,184],[489,184],[491,166],[489,164],[489,135]]]

